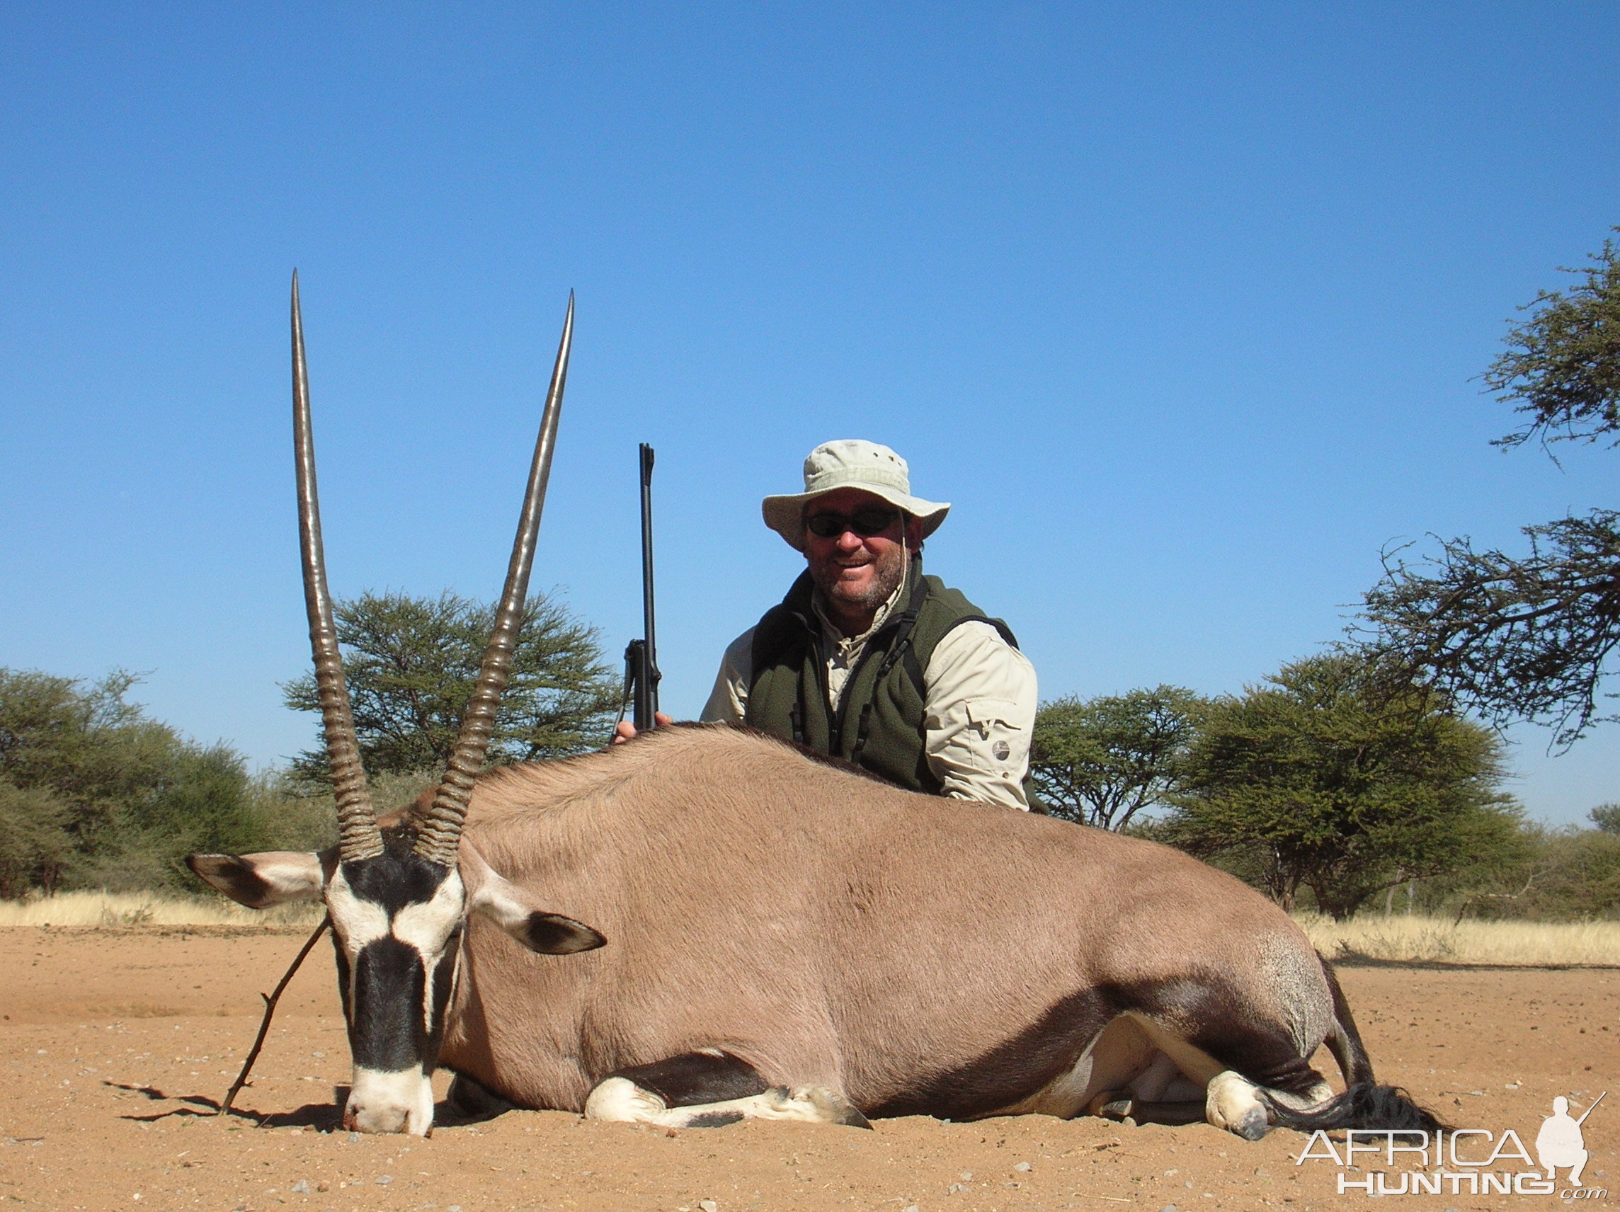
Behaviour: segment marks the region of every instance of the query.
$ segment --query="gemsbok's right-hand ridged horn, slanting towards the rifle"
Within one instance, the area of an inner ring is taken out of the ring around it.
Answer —
[[[535,459],[528,468],[528,493],[523,496],[523,512],[517,522],[517,538],[512,543],[512,561],[507,564],[507,583],[496,611],[496,629],[484,648],[484,663],[478,671],[478,687],[467,705],[462,734],[444,771],[444,781],[433,797],[433,807],[416,836],[416,854],[441,867],[455,865],[455,851],[462,841],[462,822],[467,818],[467,802],[473,794],[473,781],[483,770],[489,752],[489,734],[496,724],[501,693],[512,674],[512,651],[523,625],[523,608],[528,603],[528,574],[535,567],[535,540],[539,536],[539,514],[546,507],[546,481],[551,478],[551,454],[557,444],[557,418],[562,413],[562,389],[569,381],[569,348],[573,345],[573,292],[569,292],[569,311],[562,319],[562,340],[557,345],[557,361],[551,369],[551,390],[546,392],[546,412],[539,418],[539,436],[535,439]]]

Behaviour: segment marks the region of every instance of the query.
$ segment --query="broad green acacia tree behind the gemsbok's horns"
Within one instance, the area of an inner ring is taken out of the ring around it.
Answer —
[[[444,766],[478,682],[494,606],[454,593],[364,593],[334,603],[334,616],[366,770],[405,775]],[[313,672],[282,689],[295,711],[321,711]],[[596,629],[536,595],[525,604],[488,762],[593,749],[606,740],[617,706],[619,685],[601,659]],[[300,753],[293,766],[324,781],[324,747]]]

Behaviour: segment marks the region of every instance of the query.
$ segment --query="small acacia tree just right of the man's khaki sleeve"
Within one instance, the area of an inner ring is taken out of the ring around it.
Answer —
[[[1035,715],[1030,773],[1053,817],[1123,830],[1166,804],[1205,700],[1179,685],[1068,697]]]

